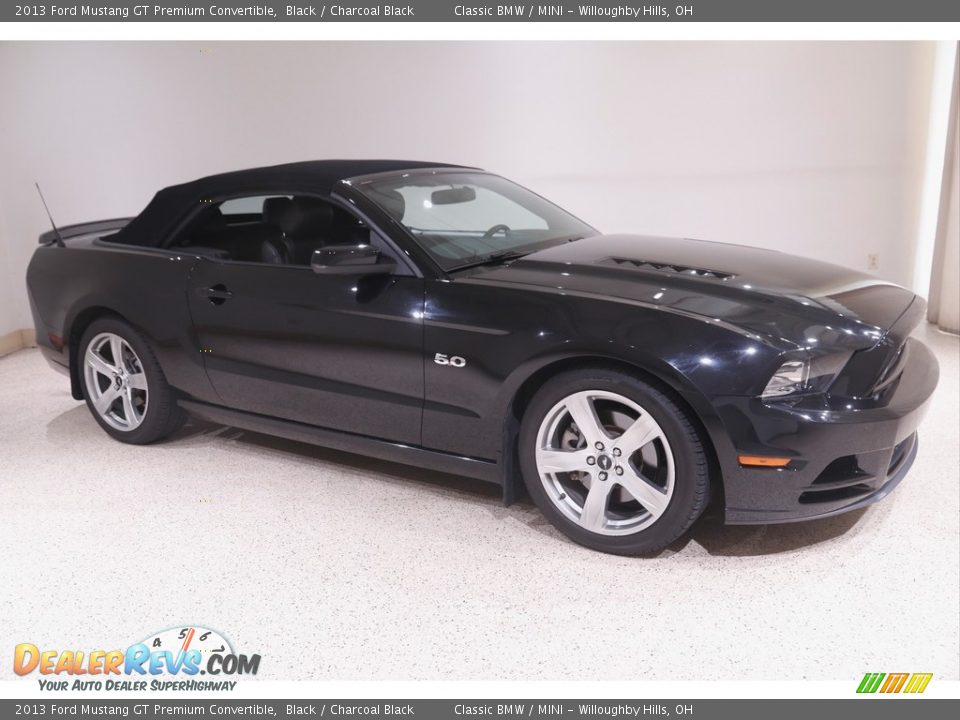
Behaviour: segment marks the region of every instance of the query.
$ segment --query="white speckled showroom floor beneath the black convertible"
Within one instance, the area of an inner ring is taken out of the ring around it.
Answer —
[[[260,679],[957,679],[958,340],[885,502],[653,560],[436,473],[208,425],[108,438],[36,350],[0,359],[0,649],[197,623]],[[13,677],[0,663],[0,679]]]

